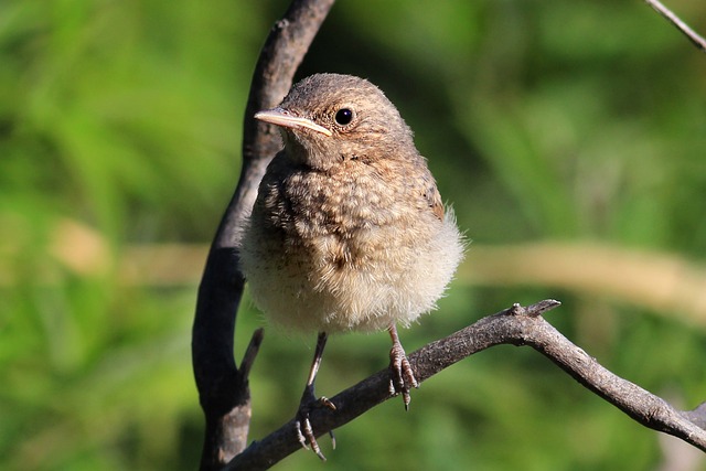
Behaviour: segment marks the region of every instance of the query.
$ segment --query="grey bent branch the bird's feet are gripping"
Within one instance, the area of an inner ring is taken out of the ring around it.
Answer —
[[[612,374],[542,318],[544,312],[557,306],[559,302],[554,300],[527,308],[514,304],[417,350],[409,355],[417,381],[421,383],[493,345],[528,345],[638,422],[706,451],[706,405],[693,411],[680,411],[660,397]],[[328,433],[389,399],[388,382],[389,371],[383,370],[331,398],[335,410],[325,407],[313,410],[310,419],[317,436]],[[261,441],[250,445],[224,470],[265,470],[300,448],[292,419]]]

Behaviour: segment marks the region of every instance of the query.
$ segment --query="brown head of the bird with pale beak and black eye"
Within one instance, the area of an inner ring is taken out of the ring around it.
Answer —
[[[416,154],[411,130],[383,92],[351,75],[317,74],[256,119],[281,127],[289,158],[328,171],[344,160]]]

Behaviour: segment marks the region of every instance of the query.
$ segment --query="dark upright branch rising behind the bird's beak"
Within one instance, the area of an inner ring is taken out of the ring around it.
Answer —
[[[332,4],[333,0],[292,1],[270,31],[253,75],[244,121],[243,170],[211,245],[192,330],[194,376],[206,421],[202,470],[220,468],[240,452],[250,422],[247,374],[263,334],[261,331],[254,334],[238,370],[233,357],[233,339],[245,283],[238,269],[239,228],[253,207],[267,164],[280,147],[278,135],[255,124],[253,116],[274,107],[287,94]]]

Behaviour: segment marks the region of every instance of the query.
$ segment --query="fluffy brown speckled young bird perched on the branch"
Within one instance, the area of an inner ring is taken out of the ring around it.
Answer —
[[[269,321],[318,331],[297,432],[323,459],[309,422],[328,333],[386,329],[391,394],[405,408],[417,381],[397,335],[436,307],[463,257],[452,211],[411,129],[375,85],[317,74],[255,118],[282,130],[240,251],[255,303]]]

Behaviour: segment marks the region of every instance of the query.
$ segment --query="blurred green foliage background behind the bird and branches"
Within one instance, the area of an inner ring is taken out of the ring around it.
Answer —
[[[0,469],[192,470],[190,328],[282,0],[0,3]],[[706,2],[670,6],[706,33]],[[408,351],[513,302],[608,368],[706,400],[706,56],[643,2],[341,1],[299,77],[379,85],[472,239]],[[239,358],[260,317],[246,299]],[[295,413],[314,341],[268,329],[252,438]],[[333,338],[318,389],[387,363]],[[528,349],[494,347],[280,469],[705,470]],[[684,462],[680,462],[680,460]],[[681,467],[681,468],[680,468]]]

